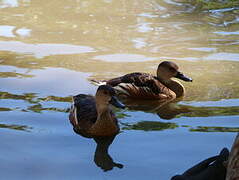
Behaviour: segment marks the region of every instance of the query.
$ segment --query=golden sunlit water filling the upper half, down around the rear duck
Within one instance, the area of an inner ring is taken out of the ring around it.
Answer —
[[[194,79],[185,83],[185,100],[238,98],[236,10],[199,13],[172,2],[1,1],[0,63],[62,67],[107,79],[155,73],[161,60],[173,60]]]

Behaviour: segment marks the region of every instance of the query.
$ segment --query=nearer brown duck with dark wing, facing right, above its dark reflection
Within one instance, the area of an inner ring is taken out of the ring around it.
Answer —
[[[125,108],[125,106],[115,97],[115,94],[111,86],[101,85],[95,97],[86,94],[73,96],[69,113],[73,130],[88,138],[119,133],[118,120],[110,104],[118,108]]]

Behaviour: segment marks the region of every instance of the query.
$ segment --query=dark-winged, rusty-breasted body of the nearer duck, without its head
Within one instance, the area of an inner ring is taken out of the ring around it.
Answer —
[[[119,132],[118,121],[112,110],[108,109],[98,117],[96,99],[91,95],[73,96],[69,120],[76,133],[88,138],[109,136]]]

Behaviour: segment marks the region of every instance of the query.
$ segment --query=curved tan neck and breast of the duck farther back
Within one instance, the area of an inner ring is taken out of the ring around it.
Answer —
[[[159,77],[158,79],[161,83],[163,83],[165,86],[171,89],[176,94],[177,98],[182,97],[184,95],[185,89],[180,82],[172,79],[165,80]]]

